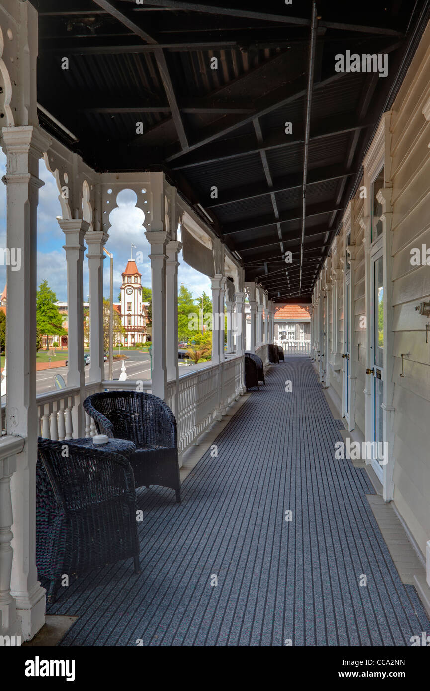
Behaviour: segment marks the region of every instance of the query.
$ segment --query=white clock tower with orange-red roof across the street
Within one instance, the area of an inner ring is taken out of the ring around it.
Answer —
[[[129,259],[122,274],[121,286],[121,322],[125,329],[122,335],[123,345],[134,345],[145,340],[146,316],[142,301],[142,274],[134,259]]]

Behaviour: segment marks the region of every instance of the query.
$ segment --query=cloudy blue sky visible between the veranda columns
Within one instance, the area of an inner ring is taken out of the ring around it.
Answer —
[[[6,173],[6,155],[0,149],[0,179]],[[39,207],[37,208],[37,286],[45,278],[48,285],[55,292],[58,301],[66,301],[66,254],[63,249],[64,233],[59,227],[56,216],[61,216],[61,207],[58,200],[57,184],[53,175],[48,171],[44,160],[39,161],[39,178],[43,180],[44,187],[39,189]],[[131,190],[123,190],[118,195],[118,208],[111,211],[109,220],[109,240],[106,249],[113,254],[113,301],[118,301],[118,294],[122,283],[121,274],[127,266],[127,260],[131,256],[131,243],[133,257],[136,252],[142,252],[144,261],[138,263],[139,272],[142,274],[142,285],[151,287],[151,263],[148,258],[149,243],[144,236],[142,222],[144,213],[135,207],[136,196]],[[0,248],[6,247],[6,185],[0,185]],[[0,261],[1,261],[0,254]],[[183,261],[182,252],[179,260],[178,284],[184,283],[191,290],[194,297],[198,297],[205,291],[211,294],[209,278],[191,269]],[[104,296],[109,297],[110,284],[110,260],[106,256],[103,269]],[[6,266],[0,265],[0,292],[6,285]],[[88,301],[88,260],[84,254],[84,301]]]

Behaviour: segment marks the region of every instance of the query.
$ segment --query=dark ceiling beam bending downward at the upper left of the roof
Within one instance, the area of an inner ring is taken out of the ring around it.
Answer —
[[[169,102],[169,107],[175,123],[176,133],[178,134],[180,146],[182,146],[183,149],[188,149],[189,143],[187,135],[185,133],[185,127],[183,124],[182,117],[180,115],[174,85],[171,81],[169,68],[167,66],[166,57],[163,53],[162,48],[160,48],[160,46],[157,46],[156,39],[153,39],[152,36],[147,34],[147,32],[140,25],[136,24],[135,21],[131,17],[129,17],[129,15],[124,14],[124,12],[122,12],[122,10],[120,10],[111,0],[93,0],[93,2],[95,2],[96,5],[100,6],[102,10],[106,10],[106,12],[108,12],[108,14],[111,15],[111,17],[114,17],[115,19],[120,21],[120,23],[124,24],[124,26],[127,26],[128,29],[133,31],[133,33],[135,33],[136,36],[146,41],[147,44],[152,44],[154,46],[153,52],[157,61],[161,81],[165,88],[167,101]]]

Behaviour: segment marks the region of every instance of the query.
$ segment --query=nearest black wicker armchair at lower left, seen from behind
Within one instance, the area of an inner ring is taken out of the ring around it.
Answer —
[[[129,557],[140,573],[136,510],[127,458],[38,439],[36,565],[39,577],[49,581],[49,602],[64,574],[70,578]]]

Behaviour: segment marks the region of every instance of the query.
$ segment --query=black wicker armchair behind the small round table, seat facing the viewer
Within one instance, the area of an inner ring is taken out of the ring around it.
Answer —
[[[84,409],[99,434],[135,444],[129,460],[136,487],[171,487],[180,502],[176,419],[164,401],[150,393],[107,391],[88,396]]]

